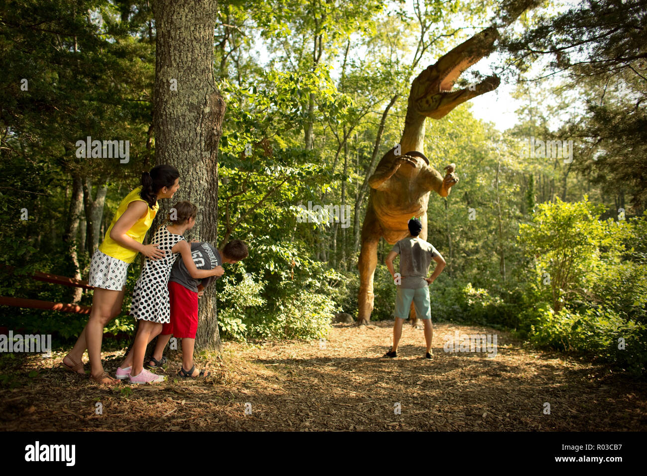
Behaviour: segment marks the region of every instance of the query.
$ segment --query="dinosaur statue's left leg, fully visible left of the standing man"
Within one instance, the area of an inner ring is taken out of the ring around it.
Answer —
[[[359,315],[357,324],[368,324],[373,311],[373,277],[377,267],[377,244],[382,235],[382,227],[377,221],[372,203],[366,209],[364,226],[362,227],[362,251],[357,266],[360,269],[360,291],[357,296]]]

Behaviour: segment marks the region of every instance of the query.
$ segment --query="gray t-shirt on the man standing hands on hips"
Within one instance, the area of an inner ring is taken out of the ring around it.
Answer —
[[[429,275],[429,266],[432,264],[433,255],[438,255],[438,251],[432,244],[418,238],[409,236],[400,240],[393,249],[400,255],[400,275],[402,281],[400,286],[403,289],[419,289],[429,286],[424,278]]]

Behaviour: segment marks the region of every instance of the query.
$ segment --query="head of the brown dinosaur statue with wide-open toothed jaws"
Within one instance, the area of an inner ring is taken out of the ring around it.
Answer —
[[[492,52],[497,38],[496,28],[486,28],[422,71],[411,84],[410,109],[414,106],[423,116],[441,119],[459,104],[496,89],[499,78],[488,76],[480,83],[452,91],[463,71]]]

